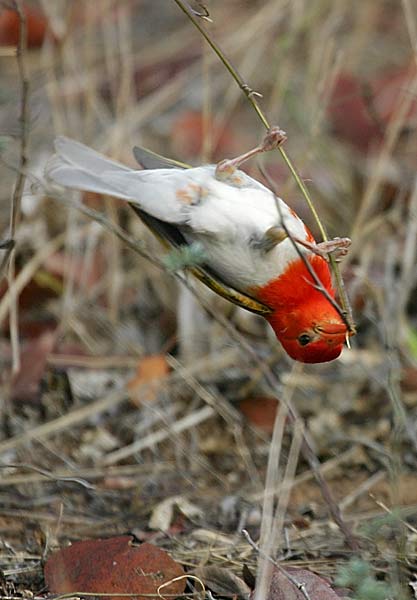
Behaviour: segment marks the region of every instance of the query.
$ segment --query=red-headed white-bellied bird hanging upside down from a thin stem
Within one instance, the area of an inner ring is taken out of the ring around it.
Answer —
[[[197,244],[192,273],[217,294],[262,315],[287,354],[304,363],[337,358],[351,335],[334,301],[329,253],[342,256],[349,238],[316,243],[297,214],[273,191],[239,169],[278,147],[285,132],[234,159],[188,168],[135,147],[133,169],[60,136],[45,174],[67,188],[127,201],[166,245]]]

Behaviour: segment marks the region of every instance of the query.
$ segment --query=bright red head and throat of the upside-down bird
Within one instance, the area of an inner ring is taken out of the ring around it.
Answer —
[[[308,259],[323,287],[334,297],[327,262]],[[257,296],[274,309],[267,320],[286,352],[300,362],[328,362],[339,356],[347,327],[329,300],[316,289],[304,262],[291,263],[278,279],[257,290]]]

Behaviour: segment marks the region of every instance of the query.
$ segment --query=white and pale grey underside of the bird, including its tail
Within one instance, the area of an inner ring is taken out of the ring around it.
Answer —
[[[187,242],[200,242],[207,265],[236,289],[264,285],[298,258],[289,239],[268,252],[260,248],[257,242],[281,219],[271,191],[242,171],[225,181],[215,177],[215,165],[139,171],[65,137],[57,138],[55,150],[46,167],[50,179],[127,200],[177,226]],[[290,233],[307,240],[301,219],[278,201]]]

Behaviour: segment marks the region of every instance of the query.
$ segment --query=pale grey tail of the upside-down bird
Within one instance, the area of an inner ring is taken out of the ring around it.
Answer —
[[[112,182],[112,175],[117,180],[123,172],[132,172],[132,169],[63,136],[55,140],[55,154],[45,168],[46,177],[60,185],[128,200],[120,185]]]

